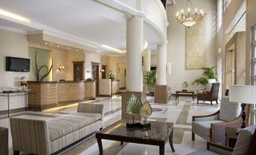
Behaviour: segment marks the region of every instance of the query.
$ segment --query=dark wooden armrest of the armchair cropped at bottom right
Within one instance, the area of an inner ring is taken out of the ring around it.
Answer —
[[[219,153],[222,155],[232,155],[233,148],[224,147],[223,145],[214,144],[212,142],[207,142],[207,150],[211,150],[214,153]]]

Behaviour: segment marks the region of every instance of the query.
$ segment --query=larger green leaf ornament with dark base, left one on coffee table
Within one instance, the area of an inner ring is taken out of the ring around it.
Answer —
[[[132,123],[126,123],[128,128],[139,127],[140,123],[134,123],[134,115],[140,114],[140,108],[142,107],[142,103],[140,99],[137,98],[134,94],[131,95],[128,102],[125,105],[125,113],[128,115],[132,115]]]

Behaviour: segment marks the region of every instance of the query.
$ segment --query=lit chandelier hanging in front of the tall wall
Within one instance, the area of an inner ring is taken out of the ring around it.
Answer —
[[[185,9],[177,12],[176,21],[177,23],[183,24],[184,26],[190,28],[204,19],[203,14],[204,13],[202,10],[200,10],[200,13],[198,13],[197,8],[193,9],[191,0],[187,0]]]

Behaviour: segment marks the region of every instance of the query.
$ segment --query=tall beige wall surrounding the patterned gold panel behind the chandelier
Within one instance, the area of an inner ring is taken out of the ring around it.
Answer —
[[[184,8],[185,0],[169,5],[168,10],[168,48],[167,62],[171,62],[171,75],[167,76],[168,87],[171,93],[182,89],[182,84],[187,81],[188,90],[199,90],[202,87],[192,85],[196,78],[202,74],[200,69],[186,69],[186,29],[175,20],[176,12]],[[216,32],[217,32],[217,2],[215,0],[193,1],[193,5],[202,8],[205,12],[205,42],[206,66],[216,65]]]

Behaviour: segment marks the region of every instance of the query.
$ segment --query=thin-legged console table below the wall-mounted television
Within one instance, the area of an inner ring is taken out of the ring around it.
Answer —
[[[0,92],[0,96],[2,97],[7,97],[8,99],[8,117],[10,117],[10,97],[13,96],[25,96],[25,111],[27,106],[27,98],[28,95],[32,94],[34,96],[34,104],[35,104],[35,91],[30,91],[30,90],[26,90],[26,91],[10,91],[10,92]],[[35,110],[35,107],[34,107]]]

